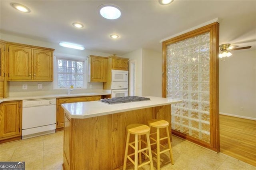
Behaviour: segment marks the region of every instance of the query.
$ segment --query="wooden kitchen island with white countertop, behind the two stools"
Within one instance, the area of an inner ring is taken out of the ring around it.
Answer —
[[[114,170],[122,166],[126,126],[148,124],[152,118],[164,119],[171,124],[171,104],[182,102],[148,98],[150,100],[112,105],[100,101],[62,104],[65,111],[63,168]]]

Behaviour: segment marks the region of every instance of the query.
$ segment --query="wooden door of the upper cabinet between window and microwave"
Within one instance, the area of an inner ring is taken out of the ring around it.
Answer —
[[[105,58],[91,58],[91,82],[106,82]]]

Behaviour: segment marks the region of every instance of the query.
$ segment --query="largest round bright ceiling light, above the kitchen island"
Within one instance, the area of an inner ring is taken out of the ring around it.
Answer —
[[[112,4],[103,4],[98,7],[98,13],[109,20],[115,20],[121,16],[121,10],[118,6]]]

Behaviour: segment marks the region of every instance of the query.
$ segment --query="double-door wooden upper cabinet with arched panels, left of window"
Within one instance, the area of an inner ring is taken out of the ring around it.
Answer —
[[[7,43],[9,81],[53,81],[53,51],[17,43]]]

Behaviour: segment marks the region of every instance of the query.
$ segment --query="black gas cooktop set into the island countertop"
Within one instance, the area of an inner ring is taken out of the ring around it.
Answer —
[[[127,97],[101,99],[100,101],[107,104],[116,104],[116,103],[126,103],[126,102],[138,102],[138,101],[145,101],[145,100],[150,100],[150,98],[139,97],[139,96],[127,96]]]

